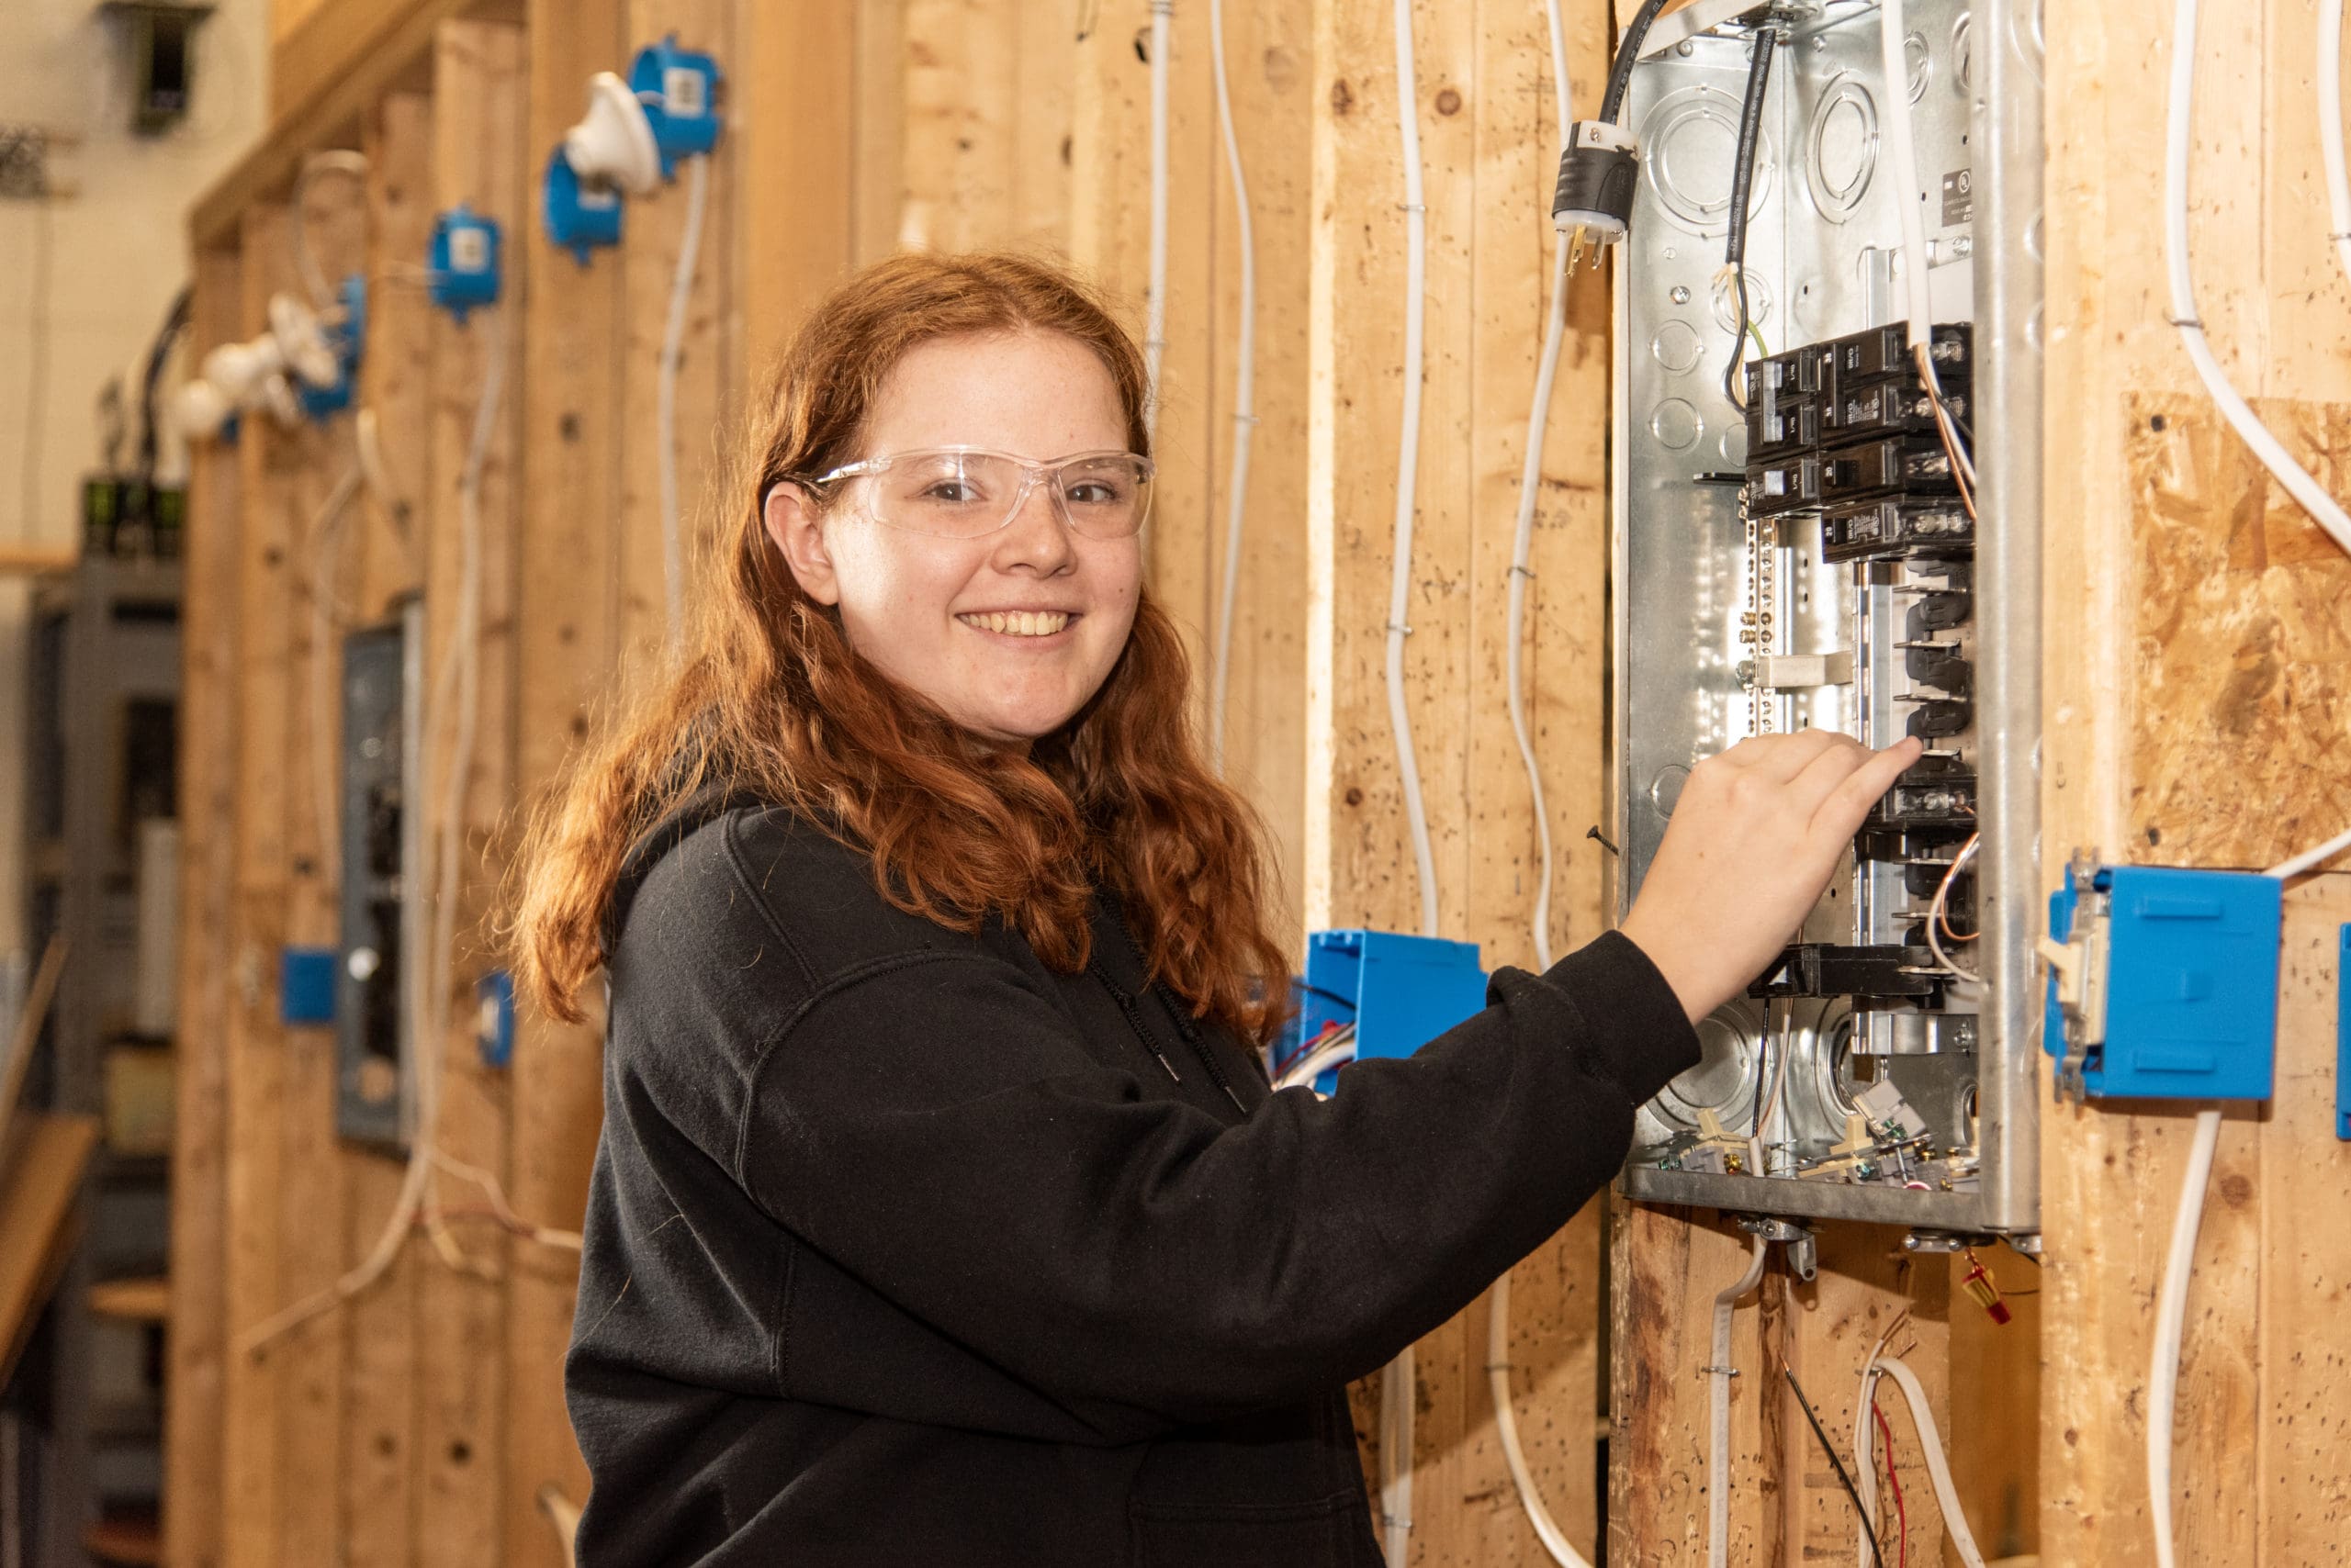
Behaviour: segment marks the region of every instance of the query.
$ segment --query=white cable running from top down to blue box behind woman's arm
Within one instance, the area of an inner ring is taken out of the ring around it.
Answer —
[[[1404,430],[1396,440],[1396,548],[1387,590],[1387,726],[1396,736],[1404,820],[1420,875],[1420,933],[1436,936],[1436,851],[1429,809],[1420,799],[1413,715],[1404,703],[1404,614],[1413,592],[1413,508],[1420,484],[1420,374],[1427,331],[1429,209],[1420,176],[1420,85],[1413,71],[1413,0],[1394,0],[1396,132],[1404,143]],[[1413,1352],[1406,1347],[1380,1378],[1380,1521],[1389,1568],[1404,1568],[1413,1535]]]

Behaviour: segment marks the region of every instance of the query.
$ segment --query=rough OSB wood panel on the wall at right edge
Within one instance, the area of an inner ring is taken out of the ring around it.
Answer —
[[[2104,849],[2273,865],[2351,823],[2351,557],[2210,402],[2125,407],[2132,842]],[[2320,484],[2351,489],[2351,404],[2266,397],[2255,411]]]

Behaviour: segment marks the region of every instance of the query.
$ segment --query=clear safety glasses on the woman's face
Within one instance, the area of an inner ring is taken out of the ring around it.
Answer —
[[[931,447],[844,463],[816,480],[865,480],[875,522],[910,534],[978,538],[1009,524],[1039,484],[1056,515],[1086,538],[1133,538],[1152,510],[1152,461],[1133,451],[1081,451],[1030,463],[1009,451]]]

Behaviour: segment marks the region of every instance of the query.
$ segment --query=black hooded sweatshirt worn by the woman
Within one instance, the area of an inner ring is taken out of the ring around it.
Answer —
[[[1375,1568],[1345,1385],[1697,1060],[1603,936],[1328,1103],[1098,900],[1093,964],[703,797],[635,851],[567,1363],[581,1568]]]

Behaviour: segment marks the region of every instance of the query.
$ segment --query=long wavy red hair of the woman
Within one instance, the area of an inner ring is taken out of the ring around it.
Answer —
[[[1002,331],[1058,331],[1091,348],[1117,383],[1131,449],[1150,454],[1143,355],[1053,266],[893,256],[835,289],[748,421],[691,635],[531,820],[513,964],[545,1013],[583,1018],[637,837],[724,780],[868,853],[896,907],[957,931],[999,914],[1063,973],[1086,966],[1089,898],[1103,886],[1152,973],[1197,1016],[1255,1041],[1279,1025],[1288,966],[1265,922],[1262,827],[1201,762],[1190,663],[1150,592],[1103,689],[1020,757],[978,743],[860,658],[762,527],[771,484],[860,456],[875,395],[910,348]]]

